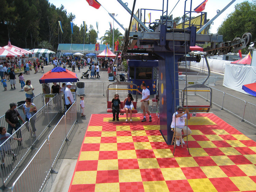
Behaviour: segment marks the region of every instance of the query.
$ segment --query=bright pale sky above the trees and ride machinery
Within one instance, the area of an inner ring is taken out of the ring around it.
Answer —
[[[128,3],[127,6],[130,10],[133,8],[133,0],[122,0],[123,3]],[[228,14],[234,11],[235,4],[241,3],[245,0],[236,0],[233,2],[226,11],[224,11],[218,18],[214,20],[210,32],[217,33],[218,27],[221,23],[227,18]],[[111,22],[112,27],[118,28],[119,31],[124,34],[124,30],[116,23],[113,24],[113,19],[109,16],[109,13],[115,13],[115,18],[120,24],[123,24],[124,28],[129,27],[131,15],[123,8],[123,6],[117,0],[98,0],[102,6],[99,9],[95,9],[92,6],[89,6],[86,0],[49,0],[49,3],[54,4],[59,8],[62,4],[66,9],[67,13],[72,13],[76,16],[73,20],[73,23],[80,27],[85,21],[87,27],[90,25],[97,31],[96,22],[98,22],[98,37],[104,36],[106,30],[110,29],[109,22]],[[166,0],[164,1],[166,3]],[[178,3],[177,3],[178,2]],[[196,8],[203,0],[192,0],[192,10]],[[207,12],[207,19],[212,19],[216,14],[217,10],[222,10],[225,6],[230,3],[231,0],[208,0],[205,6],[204,12]],[[162,0],[136,0],[134,12],[138,9],[158,9],[162,10],[163,8]],[[175,4],[176,7],[174,8]],[[184,4],[185,0],[169,0],[168,6],[168,15],[172,11],[173,18],[181,17],[184,14]],[[190,0],[187,0],[186,10],[190,9]],[[166,5],[164,6],[164,10]],[[151,22],[156,19],[160,19],[162,12],[146,10],[146,21],[149,22],[148,13],[151,13]],[[192,16],[198,16],[199,14],[194,13]],[[148,25],[147,25],[148,26]],[[71,28],[70,28],[71,30]],[[65,33],[65,31],[64,31]],[[99,40],[98,40],[99,41]]]

